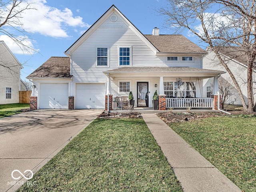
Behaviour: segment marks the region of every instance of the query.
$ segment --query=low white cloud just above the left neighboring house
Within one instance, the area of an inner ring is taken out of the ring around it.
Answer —
[[[7,35],[0,35],[0,40],[4,41],[4,43],[8,46],[8,48],[11,50],[13,54],[25,54],[25,55],[31,55],[36,52],[39,52],[39,50],[35,50],[32,40],[28,39],[25,36],[18,37],[19,40],[22,40],[22,44],[24,44],[27,47],[30,47],[32,49],[24,49],[21,45],[18,45],[12,38],[10,38]]]

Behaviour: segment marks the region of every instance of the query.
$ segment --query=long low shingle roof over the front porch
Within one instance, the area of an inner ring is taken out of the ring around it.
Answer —
[[[108,70],[105,73],[148,73],[148,72],[184,72],[184,73],[193,73],[193,72],[202,72],[202,73],[225,73],[218,70],[210,69],[200,69],[192,67],[121,67],[117,69]]]

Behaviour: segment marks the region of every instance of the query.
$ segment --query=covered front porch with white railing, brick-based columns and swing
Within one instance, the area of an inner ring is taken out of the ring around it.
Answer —
[[[224,72],[190,67],[122,67],[104,73],[108,77],[105,110],[112,110],[113,99],[127,98],[130,91],[134,94],[135,109],[152,109],[156,91],[159,110],[216,110],[218,78]],[[202,80],[210,77],[214,77],[212,97],[204,97]]]

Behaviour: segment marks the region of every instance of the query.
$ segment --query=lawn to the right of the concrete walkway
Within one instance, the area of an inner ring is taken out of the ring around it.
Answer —
[[[206,118],[169,125],[241,190],[256,191],[256,116]]]

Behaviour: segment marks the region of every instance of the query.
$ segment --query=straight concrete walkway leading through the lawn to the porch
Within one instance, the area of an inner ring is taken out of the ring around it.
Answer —
[[[156,114],[142,114],[184,192],[241,192]]]

